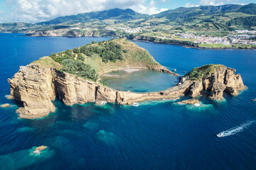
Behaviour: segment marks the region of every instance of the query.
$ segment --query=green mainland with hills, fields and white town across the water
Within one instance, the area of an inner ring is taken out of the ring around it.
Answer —
[[[26,33],[31,36],[107,36],[199,48],[254,49],[256,41],[253,37],[256,35],[250,31],[256,30],[255,6],[256,4],[227,4],[180,7],[154,15],[114,8],[61,16],[34,24],[0,23],[0,32]],[[237,30],[247,32],[238,33]],[[238,34],[248,36],[233,36]],[[90,52],[94,49],[86,50]],[[104,57],[102,59],[105,62],[108,60]]]

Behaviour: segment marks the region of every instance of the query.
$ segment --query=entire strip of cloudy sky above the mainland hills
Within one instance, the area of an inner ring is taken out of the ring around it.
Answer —
[[[0,0],[0,22],[36,23],[110,8],[132,8],[154,14],[180,6],[250,4],[256,0]]]

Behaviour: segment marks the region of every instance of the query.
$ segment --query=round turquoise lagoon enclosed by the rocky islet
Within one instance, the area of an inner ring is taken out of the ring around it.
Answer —
[[[172,74],[148,69],[130,73],[120,70],[105,74],[101,79],[113,89],[138,93],[163,91],[178,83],[178,79]]]

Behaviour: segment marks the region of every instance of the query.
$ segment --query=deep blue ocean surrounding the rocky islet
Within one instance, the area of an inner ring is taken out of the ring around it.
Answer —
[[[23,120],[15,112],[8,78],[33,60],[110,38],[37,38],[0,34],[0,169],[256,169],[256,50],[198,50],[134,41],[178,74],[203,64],[237,69],[248,87],[216,103],[178,106],[64,106],[46,118]],[[159,82],[159,86],[162,84]],[[183,98],[181,98],[183,99]],[[181,100],[178,99],[178,100]],[[252,122],[249,122],[252,121]],[[229,130],[231,135],[217,137]],[[34,147],[48,146],[40,155]]]

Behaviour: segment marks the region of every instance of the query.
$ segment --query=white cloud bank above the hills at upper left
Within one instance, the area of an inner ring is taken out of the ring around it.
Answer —
[[[166,8],[158,10],[154,0],[145,6],[146,0],[6,0],[5,4],[11,6],[11,13],[0,16],[3,21],[39,22],[47,21],[58,16],[75,15],[91,11],[102,11],[110,8],[132,8],[141,13],[159,13]],[[162,0],[165,1],[165,0]]]

